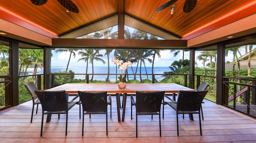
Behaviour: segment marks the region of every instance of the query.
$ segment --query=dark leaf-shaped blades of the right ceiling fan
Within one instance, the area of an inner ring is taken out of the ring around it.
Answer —
[[[174,4],[177,1],[178,0],[170,0],[170,1],[166,2],[165,4],[160,6],[156,10],[156,12],[160,12],[161,10],[168,8],[169,6],[171,6],[172,4]],[[196,6],[196,2],[197,2],[197,0],[186,0],[183,5],[183,12],[185,12],[185,13],[191,12]]]

